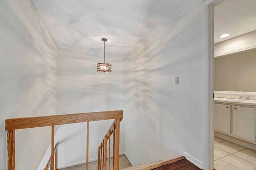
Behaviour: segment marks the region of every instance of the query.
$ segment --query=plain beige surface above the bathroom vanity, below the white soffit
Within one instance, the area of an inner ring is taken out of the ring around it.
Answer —
[[[256,50],[214,59],[214,90],[256,92]]]

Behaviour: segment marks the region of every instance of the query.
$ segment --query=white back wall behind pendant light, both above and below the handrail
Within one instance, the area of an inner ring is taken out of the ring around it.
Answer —
[[[99,45],[103,45],[102,42]],[[58,114],[124,109],[124,57],[106,53],[106,62],[112,64],[112,73],[97,73],[96,64],[102,60],[103,49],[88,52],[59,49]],[[90,122],[90,160],[98,157],[98,146],[112,122]],[[60,127],[56,134],[56,137],[62,136],[58,159],[60,167],[86,160],[86,123],[68,126]],[[120,152],[124,152],[124,120],[120,126]]]

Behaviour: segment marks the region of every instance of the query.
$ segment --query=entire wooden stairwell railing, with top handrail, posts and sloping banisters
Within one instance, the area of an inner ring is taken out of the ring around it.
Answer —
[[[75,113],[65,115],[52,115],[41,117],[24,117],[16,119],[5,120],[5,130],[7,132],[7,162],[8,170],[15,170],[15,132],[18,129],[37,128],[37,127],[52,127],[51,135],[51,155],[44,168],[44,170],[58,170],[57,169],[57,150],[58,142],[54,141],[54,127],[56,125],[66,125],[72,123],[87,123],[86,133],[86,162],[89,158],[89,122],[91,121],[103,121],[114,119],[111,127],[107,131],[104,139],[98,147],[98,169],[106,170],[107,168],[107,153],[110,158],[110,136],[112,135],[113,143],[113,169],[119,170],[119,140],[120,140],[120,121],[123,119],[123,111],[104,111],[93,113]],[[54,144],[56,143],[55,147]],[[108,152],[107,152],[108,146]],[[108,162],[110,167],[110,161]],[[88,170],[88,164],[86,164],[86,170]]]

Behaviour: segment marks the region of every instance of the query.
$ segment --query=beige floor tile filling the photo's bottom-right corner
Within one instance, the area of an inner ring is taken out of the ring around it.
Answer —
[[[229,155],[224,158],[221,158],[221,160],[227,162],[228,164],[231,164],[232,166],[240,169],[240,170],[255,170],[256,165],[243,160],[241,158],[238,158],[237,156],[234,155]]]

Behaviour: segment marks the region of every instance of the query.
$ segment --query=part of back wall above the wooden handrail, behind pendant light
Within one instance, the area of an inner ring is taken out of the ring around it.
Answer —
[[[97,60],[96,58],[99,58]],[[112,73],[97,73],[102,53],[60,49],[59,113],[122,110],[122,57],[108,57]]]

